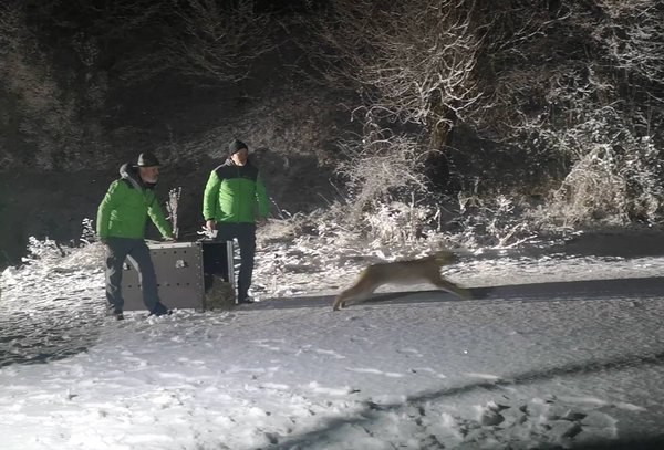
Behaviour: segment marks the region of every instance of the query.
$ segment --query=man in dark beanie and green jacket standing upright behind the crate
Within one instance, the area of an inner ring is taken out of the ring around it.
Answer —
[[[264,222],[270,210],[266,186],[258,168],[249,160],[247,144],[234,139],[228,145],[229,158],[211,171],[203,197],[203,217],[209,231],[217,230],[218,241],[238,240],[240,273],[238,303],[252,303],[249,296],[256,224]]]

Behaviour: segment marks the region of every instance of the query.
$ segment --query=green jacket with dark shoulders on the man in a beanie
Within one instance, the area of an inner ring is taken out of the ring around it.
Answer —
[[[266,186],[258,168],[228,159],[211,171],[203,197],[203,217],[222,223],[253,223],[270,212]]]

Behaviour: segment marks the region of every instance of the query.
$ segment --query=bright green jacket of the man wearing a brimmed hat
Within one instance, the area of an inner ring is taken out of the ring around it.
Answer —
[[[122,166],[120,174],[122,178],[111,184],[97,209],[100,239],[142,239],[148,216],[164,238],[173,238],[173,229],[164,216],[154,186],[145,186],[136,169],[128,164]]]

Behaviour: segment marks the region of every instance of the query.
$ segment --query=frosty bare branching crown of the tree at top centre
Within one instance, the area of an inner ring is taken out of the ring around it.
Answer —
[[[481,97],[475,66],[484,39],[474,0],[333,0],[304,48],[326,81],[354,86],[374,118],[418,124],[439,150]]]

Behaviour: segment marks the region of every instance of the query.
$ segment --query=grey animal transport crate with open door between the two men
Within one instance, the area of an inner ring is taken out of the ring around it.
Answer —
[[[205,274],[216,273],[235,286],[232,242],[148,243],[159,299],[170,308],[205,308]],[[206,258],[204,258],[204,253]],[[214,264],[214,268],[210,265]],[[138,272],[128,262],[122,274],[125,311],[145,310]]]

